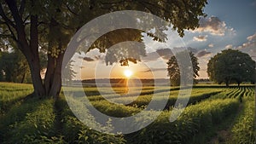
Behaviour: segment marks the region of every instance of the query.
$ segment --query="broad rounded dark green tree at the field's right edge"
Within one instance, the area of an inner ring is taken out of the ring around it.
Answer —
[[[238,86],[241,82],[253,81],[255,73],[255,61],[250,55],[233,49],[225,49],[214,55],[207,66],[209,78],[218,84],[224,82],[227,87],[231,81]]]

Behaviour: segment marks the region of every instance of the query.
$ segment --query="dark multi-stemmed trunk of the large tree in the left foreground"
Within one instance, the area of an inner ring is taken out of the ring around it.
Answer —
[[[30,32],[26,32],[25,24],[20,17],[15,0],[5,0],[5,2],[8,4],[15,21],[15,31],[17,33],[17,39],[15,41],[22,54],[25,55],[31,71],[34,88],[33,95],[41,98],[46,95],[56,97],[61,90],[61,65],[64,54],[58,55],[56,59],[49,59],[43,84],[38,55],[38,16],[36,14],[30,14]],[[36,2],[32,0],[31,3],[33,5]]]

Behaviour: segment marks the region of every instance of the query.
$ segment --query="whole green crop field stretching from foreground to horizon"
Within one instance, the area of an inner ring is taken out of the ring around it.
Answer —
[[[81,91],[79,101],[84,101]],[[113,104],[96,88],[84,88],[97,110],[113,117],[128,117],[141,112],[155,96],[169,95],[165,110],[143,130],[128,135],[107,135],[91,130],[73,115],[65,96],[59,100],[25,99],[32,93],[30,84],[0,83],[0,143],[255,143],[255,85],[225,88],[198,85],[192,89],[188,107],[170,123],[172,107],[179,89],[143,87],[131,95],[112,94],[103,88],[109,100],[132,101]],[[124,94],[125,88],[114,88]],[[136,99],[134,95],[140,94]],[[184,97],[185,99],[185,97]],[[156,99],[158,101],[158,99]],[[160,98],[159,98],[160,101]],[[154,111],[152,111],[154,114]],[[111,123],[111,122],[110,122]]]

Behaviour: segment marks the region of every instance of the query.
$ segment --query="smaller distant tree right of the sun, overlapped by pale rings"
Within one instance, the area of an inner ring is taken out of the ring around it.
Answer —
[[[188,61],[183,61],[187,60],[186,57],[188,57],[188,53],[191,59],[192,67],[191,63]],[[180,63],[178,63],[178,61],[180,61]],[[177,53],[177,55],[173,55],[167,62],[167,71],[171,84],[180,85],[181,77],[183,77],[184,80],[183,84],[187,84],[186,80],[199,76],[198,71],[200,70],[200,67],[198,64],[198,59],[191,51],[182,51]],[[189,74],[191,72],[193,72],[193,75]]]

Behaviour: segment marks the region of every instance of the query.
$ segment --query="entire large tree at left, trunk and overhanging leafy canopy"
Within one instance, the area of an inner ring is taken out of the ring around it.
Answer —
[[[172,2],[165,0],[2,0],[0,36],[14,39],[20,51],[25,55],[32,74],[34,94],[56,96],[61,89],[61,65],[67,43],[73,34],[88,21],[117,10],[140,10],[169,21],[170,24],[172,23],[172,29],[183,37],[185,29],[195,29],[200,16],[205,16],[203,8],[206,4],[207,0]],[[129,32],[129,30],[125,31]],[[116,33],[120,32],[122,30]],[[138,32],[131,32],[130,35],[143,37],[141,32],[139,34]],[[152,36],[154,33],[149,35]],[[102,43],[104,39],[111,39],[111,37],[115,37],[113,38],[115,42]],[[109,44],[130,39],[137,39],[138,42],[141,40],[141,38],[118,39],[117,35],[113,34],[107,34],[104,39],[94,44],[95,48],[100,49],[101,52],[105,52]],[[42,67],[38,54],[39,47],[47,49],[46,55],[48,55],[44,81],[40,76]],[[127,60],[129,59],[119,61],[125,61],[125,64]]]

